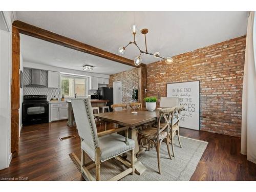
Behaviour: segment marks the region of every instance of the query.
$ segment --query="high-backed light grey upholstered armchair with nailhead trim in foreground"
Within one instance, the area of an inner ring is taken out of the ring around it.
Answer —
[[[124,172],[110,180],[119,180],[128,174],[134,174],[134,148],[135,141],[128,138],[129,127],[111,129],[104,132],[97,132],[90,99],[71,99],[78,135],[81,138],[81,172],[89,180],[95,180],[90,174],[89,167],[96,166],[96,181],[100,180],[100,164],[112,158],[129,166]],[[125,137],[117,132],[125,131]],[[131,152],[131,163],[121,159],[119,155]],[[84,152],[93,162],[84,164]],[[125,162],[124,162],[125,161]],[[93,166],[92,166],[93,165]]]

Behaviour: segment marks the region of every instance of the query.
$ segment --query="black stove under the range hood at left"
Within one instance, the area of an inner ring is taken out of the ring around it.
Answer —
[[[46,95],[24,95],[23,99],[23,125],[49,122],[49,105]]]

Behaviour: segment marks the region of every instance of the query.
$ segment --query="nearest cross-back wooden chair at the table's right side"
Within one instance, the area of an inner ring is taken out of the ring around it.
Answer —
[[[148,150],[150,150],[150,143],[153,142],[156,151],[157,151],[157,162],[158,162],[158,173],[161,174],[161,167],[160,167],[160,147],[163,140],[167,145],[167,150],[169,154],[169,158],[172,159],[172,155],[170,154],[169,148],[169,126],[170,121],[172,120],[175,108],[165,108],[159,111],[158,116],[158,127],[147,127],[146,129],[140,130],[139,135],[139,143],[141,139],[146,139],[149,141],[148,143]],[[162,118],[164,119],[164,123],[161,123]]]

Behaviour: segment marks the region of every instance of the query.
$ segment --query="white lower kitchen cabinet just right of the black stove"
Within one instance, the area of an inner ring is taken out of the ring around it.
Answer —
[[[50,114],[49,120],[58,121],[62,119],[68,119],[68,103],[60,102],[60,103],[49,103],[50,105]]]

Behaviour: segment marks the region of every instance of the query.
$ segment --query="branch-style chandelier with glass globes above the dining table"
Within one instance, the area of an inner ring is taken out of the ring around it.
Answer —
[[[142,50],[139,48],[139,46],[137,45],[137,43],[136,43],[136,40],[135,40],[135,35],[136,35],[136,33],[137,33],[137,27],[136,27],[136,25],[133,25],[133,26],[131,27],[131,30],[132,30],[132,33],[133,33],[134,40],[133,40],[133,42],[130,41],[129,44],[127,44],[125,47],[122,47],[122,46],[119,47],[118,53],[119,53],[120,55],[124,54],[125,48],[126,48],[127,46],[129,46],[130,44],[134,44],[134,45],[136,45],[136,47],[140,50],[140,55],[134,58],[134,64],[135,64],[136,66],[139,66],[140,63],[142,62],[142,58],[140,57],[142,53],[145,53],[145,54],[148,54],[148,55],[153,55],[155,58],[162,58],[162,59],[164,59],[165,63],[167,63],[167,64],[170,64],[170,63],[172,63],[172,62],[174,61],[172,57],[166,57],[166,58],[160,57],[160,53],[159,53],[159,52],[156,52],[156,53],[154,53],[154,54],[147,52],[147,47],[146,47],[146,34],[148,33],[148,29],[142,29],[142,30],[141,30],[141,33],[142,33],[142,34],[144,35],[144,37],[145,37],[145,47],[146,47],[146,50],[145,50],[145,51],[142,51]]]

